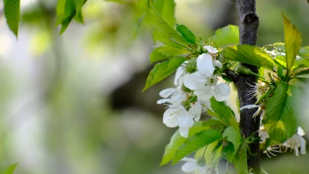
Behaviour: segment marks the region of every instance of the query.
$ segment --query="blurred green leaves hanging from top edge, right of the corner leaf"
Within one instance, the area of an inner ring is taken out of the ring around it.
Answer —
[[[56,24],[62,24],[60,34],[66,31],[74,17],[78,22],[83,22],[81,8],[85,2],[86,0],[58,0]]]

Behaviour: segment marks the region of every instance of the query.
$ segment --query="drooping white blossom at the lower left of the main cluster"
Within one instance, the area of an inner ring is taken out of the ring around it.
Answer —
[[[179,133],[183,137],[188,137],[189,129],[193,126],[193,118],[189,112],[184,109],[177,101],[171,99],[162,99],[158,104],[167,104],[169,107],[163,114],[163,123],[170,128],[179,127]]]

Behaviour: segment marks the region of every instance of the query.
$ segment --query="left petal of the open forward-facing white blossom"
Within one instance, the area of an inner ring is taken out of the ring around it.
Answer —
[[[190,90],[197,90],[204,86],[205,81],[206,79],[201,73],[195,72],[184,76],[183,84]]]

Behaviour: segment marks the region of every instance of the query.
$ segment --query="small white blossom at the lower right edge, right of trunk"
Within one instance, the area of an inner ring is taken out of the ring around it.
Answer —
[[[306,140],[302,137],[302,135],[304,135],[304,131],[298,127],[297,133],[294,134],[291,138],[287,139],[283,143],[283,146],[293,149],[296,156],[299,155],[298,148],[300,148],[300,154],[306,154]]]

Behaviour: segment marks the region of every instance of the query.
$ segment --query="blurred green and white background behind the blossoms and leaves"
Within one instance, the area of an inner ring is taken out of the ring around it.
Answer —
[[[163,125],[156,101],[173,77],[141,93],[154,44],[147,24],[137,31],[136,1],[119,2],[88,0],[85,23],[59,36],[56,0],[21,0],[18,39],[0,3],[1,165],[18,162],[17,174],[182,173],[181,162],[159,167],[175,129]],[[204,40],[237,25],[232,1],[175,2],[177,23]],[[258,45],[284,40],[281,12],[309,45],[306,0],[257,1]],[[309,172],[307,155],[262,158],[269,173]]]

